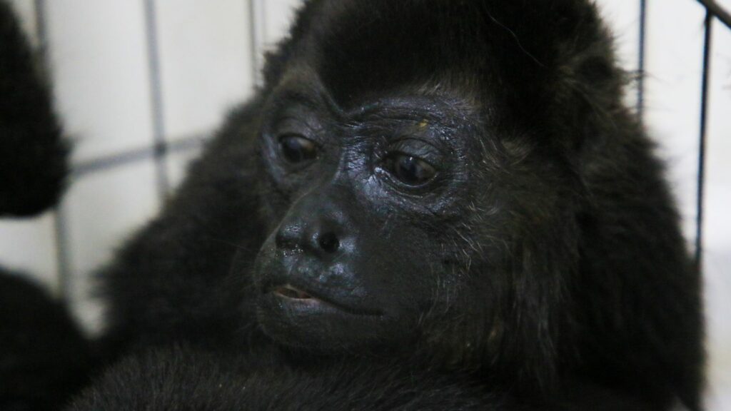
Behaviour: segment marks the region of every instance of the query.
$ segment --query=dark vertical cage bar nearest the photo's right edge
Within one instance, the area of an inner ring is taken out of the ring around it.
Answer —
[[[695,265],[700,270],[703,258],[703,196],[705,195],[705,148],[708,134],[708,83],[711,77],[711,46],[713,14],[705,12],[705,37],[703,39],[703,75],[700,99],[700,140],[698,146],[698,192],[696,203]]]

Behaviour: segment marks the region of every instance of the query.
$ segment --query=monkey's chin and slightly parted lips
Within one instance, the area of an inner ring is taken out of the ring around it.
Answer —
[[[279,344],[316,352],[368,347],[382,341],[387,316],[346,309],[312,295],[271,290],[260,296],[257,320]]]

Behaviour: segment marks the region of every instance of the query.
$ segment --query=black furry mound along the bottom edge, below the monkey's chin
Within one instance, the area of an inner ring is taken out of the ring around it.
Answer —
[[[110,369],[68,410],[547,410],[491,394],[460,373],[408,367],[389,359],[349,358],[325,366],[292,366],[292,361],[282,360],[276,350],[244,357],[190,347],[143,352]],[[640,401],[581,387],[580,393],[568,393],[551,409],[647,409]],[[590,408],[572,405],[576,402]]]

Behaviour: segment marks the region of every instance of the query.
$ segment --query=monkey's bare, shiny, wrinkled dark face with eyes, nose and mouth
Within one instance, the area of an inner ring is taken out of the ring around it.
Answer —
[[[417,94],[341,110],[304,75],[276,88],[260,137],[270,235],[254,268],[266,333],[317,351],[394,347],[459,298],[455,238],[483,154],[466,113]]]

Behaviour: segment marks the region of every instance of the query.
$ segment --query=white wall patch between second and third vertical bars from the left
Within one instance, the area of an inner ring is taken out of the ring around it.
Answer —
[[[254,86],[249,7],[162,0],[156,10],[167,136],[207,134]]]

